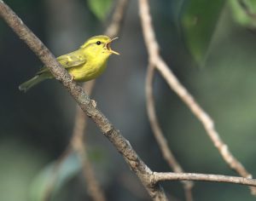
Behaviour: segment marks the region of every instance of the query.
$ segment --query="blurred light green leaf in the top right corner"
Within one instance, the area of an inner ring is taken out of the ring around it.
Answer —
[[[255,0],[230,0],[233,18],[241,26],[256,27],[256,1]]]

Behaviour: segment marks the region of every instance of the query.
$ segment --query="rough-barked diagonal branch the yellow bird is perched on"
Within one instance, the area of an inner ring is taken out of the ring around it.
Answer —
[[[61,81],[85,114],[96,123],[102,133],[113,143],[113,146],[125,158],[126,163],[129,164],[130,168],[136,173],[140,181],[142,181],[143,186],[147,189],[151,198],[154,200],[167,200],[162,187],[158,183],[154,185],[150,183],[148,175],[151,175],[152,171],[138,157],[137,152],[133,150],[130,142],[120,134],[118,129],[113,127],[113,124],[109,122],[108,118],[96,107],[96,102],[90,100],[84,89],[73,82],[66,69],[61,67],[54,55],[44,46],[44,43],[27,28],[14,11],[3,3],[2,0],[0,0],[0,14],[14,32],[38,55],[38,58],[49,69],[49,72],[57,80]]]

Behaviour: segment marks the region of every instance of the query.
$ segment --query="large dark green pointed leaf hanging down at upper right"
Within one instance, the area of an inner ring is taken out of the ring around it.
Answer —
[[[181,16],[183,37],[190,54],[202,65],[207,55],[212,34],[224,6],[224,0],[187,1]]]

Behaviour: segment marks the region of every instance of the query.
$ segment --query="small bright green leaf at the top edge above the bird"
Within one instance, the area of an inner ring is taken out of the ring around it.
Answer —
[[[99,20],[104,20],[109,13],[112,0],[88,0],[90,11],[96,15]]]

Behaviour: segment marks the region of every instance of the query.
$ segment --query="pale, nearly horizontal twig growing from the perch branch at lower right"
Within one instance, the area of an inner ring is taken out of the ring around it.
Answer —
[[[214,181],[225,182],[232,184],[241,184],[256,187],[256,180],[247,179],[239,176],[227,175],[210,175],[210,174],[197,174],[197,173],[172,173],[172,172],[154,172],[153,181]]]

